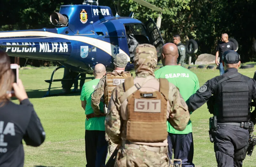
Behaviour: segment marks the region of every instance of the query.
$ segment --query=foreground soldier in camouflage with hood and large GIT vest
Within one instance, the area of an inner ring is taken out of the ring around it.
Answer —
[[[155,78],[156,64],[156,48],[138,45],[136,77],[127,78],[112,91],[105,130],[118,144],[114,166],[169,166],[166,120],[180,131],[188,124],[188,106],[176,86]]]

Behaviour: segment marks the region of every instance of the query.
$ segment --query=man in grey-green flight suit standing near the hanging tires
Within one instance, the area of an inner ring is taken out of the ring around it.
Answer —
[[[179,50],[179,57],[178,57],[178,65],[184,67],[184,60],[186,58],[186,47],[184,44],[180,42],[180,36],[174,35],[173,36],[173,43],[177,45]]]

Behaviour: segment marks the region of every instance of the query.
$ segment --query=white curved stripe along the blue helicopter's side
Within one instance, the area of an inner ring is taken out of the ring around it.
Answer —
[[[116,47],[115,45],[105,41],[101,41],[99,39],[87,37],[87,36],[68,36],[68,35],[56,34],[56,33],[45,32],[45,31],[21,31],[21,32],[0,33],[0,38],[1,37],[17,37],[17,36],[46,36],[46,37],[64,38],[64,39],[73,40],[73,41],[80,41],[86,44],[96,46],[97,48],[103,50],[104,52],[107,52],[109,55],[113,56],[114,58],[116,57],[114,52],[112,52],[112,50],[114,50],[113,48]],[[119,49],[119,53],[125,54],[127,56],[128,61],[130,61],[130,57],[122,49]]]

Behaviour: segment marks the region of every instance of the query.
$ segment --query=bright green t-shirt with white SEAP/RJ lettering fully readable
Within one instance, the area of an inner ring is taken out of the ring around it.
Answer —
[[[182,98],[186,101],[199,89],[199,81],[195,73],[181,66],[164,66],[155,72],[156,78],[166,78],[179,88]],[[183,131],[178,131],[167,121],[167,131],[173,134],[188,134],[192,132],[192,123],[189,120]]]

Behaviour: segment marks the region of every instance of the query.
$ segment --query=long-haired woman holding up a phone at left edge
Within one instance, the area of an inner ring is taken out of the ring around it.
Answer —
[[[24,165],[22,139],[26,145],[38,147],[45,132],[21,80],[14,83],[10,66],[10,57],[0,50],[0,166],[20,167]],[[10,100],[12,96],[20,105]]]

